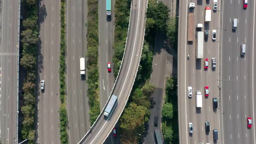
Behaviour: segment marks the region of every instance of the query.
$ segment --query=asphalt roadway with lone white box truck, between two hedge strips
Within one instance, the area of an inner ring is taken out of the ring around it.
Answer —
[[[66,10],[69,142],[77,144],[90,128],[86,75],[80,75],[80,58],[86,54],[86,1],[67,0]]]

